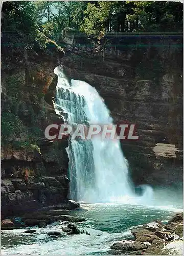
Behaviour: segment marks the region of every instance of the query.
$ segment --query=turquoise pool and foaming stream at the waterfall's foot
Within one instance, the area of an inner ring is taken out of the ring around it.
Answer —
[[[48,231],[61,230],[62,222],[37,229],[39,234],[23,234],[25,229],[2,231],[3,255],[105,255],[114,241],[132,238],[131,229],[146,222],[159,219],[167,222],[174,207],[146,207],[126,204],[81,204],[81,208],[68,214],[84,217],[78,224],[91,235],[78,234],[50,237]]]

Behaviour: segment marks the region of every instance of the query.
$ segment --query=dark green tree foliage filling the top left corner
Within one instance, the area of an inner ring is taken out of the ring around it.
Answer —
[[[2,58],[20,65],[25,52],[44,49],[48,31],[42,27],[33,2],[4,2],[2,7]]]

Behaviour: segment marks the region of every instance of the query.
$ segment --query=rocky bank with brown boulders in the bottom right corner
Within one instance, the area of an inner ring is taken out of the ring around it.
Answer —
[[[132,229],[131,233],[134,240],[122,240],[114,243],[110,247],[110,253],[113,255],[124,254],[125,252],[167,254],[172,249],[178,249],[180,253],[180,242],[183,241],[183,213],[176,214],[166,225],[154,220],[142,227]],[[177,241],[177,243],[173,241]]]

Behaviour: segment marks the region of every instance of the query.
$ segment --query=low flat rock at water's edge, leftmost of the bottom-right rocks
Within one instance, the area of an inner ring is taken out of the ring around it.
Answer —
[[[122,240],[114,243],[110,246],[110,248],[118,251],[137,251],[146,249],[147,246],[141,242],[136,242],[133,240]]]

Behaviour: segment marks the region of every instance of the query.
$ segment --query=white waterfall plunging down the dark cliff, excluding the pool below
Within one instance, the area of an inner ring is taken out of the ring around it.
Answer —
[[[62,67],[58,75],[55,111],[66,123],[110,124],[112,118],[95,88],[79,80],[68,82]],[[145,202],[150,200],[152,189],[144,187],[143,196],[137,197],[128,178],[128,164],[123,156],[120,141],[101,139],[71,140],[67,148],[68,173],[71,180],[71,199],[85,202]],[[146,200],[146,201],[147,201]]]

